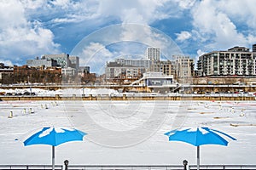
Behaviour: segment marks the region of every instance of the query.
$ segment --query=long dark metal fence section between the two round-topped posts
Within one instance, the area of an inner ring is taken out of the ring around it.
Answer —
[[[80,166],[80,165],[70,165],[68,170],[183,170],[183,166],[157,166],[157,165],[140,165],[140,166]]]

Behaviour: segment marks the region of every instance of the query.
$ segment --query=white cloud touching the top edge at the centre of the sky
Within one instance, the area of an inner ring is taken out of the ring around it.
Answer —
[[[123,23],[150,24],[174,14],[172,0],[101,0],[97,13],[113,16]],[[168,9],[168,10],[166,10]]]

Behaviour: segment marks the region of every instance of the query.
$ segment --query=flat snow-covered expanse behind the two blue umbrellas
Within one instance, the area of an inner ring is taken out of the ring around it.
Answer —
[[[181,165],[184,159],[196,164],[195,146],[164,135],[175,127],[212,127],[237,139],[228,146],[201,146],[201,164],[255,164],[255,106],[255,101],[0,101],[0,164],[51,164],[49,145],[22,143],[47,126],[88,133],[83,142],[55,147],[56,164],[66,159],[82,165]]]

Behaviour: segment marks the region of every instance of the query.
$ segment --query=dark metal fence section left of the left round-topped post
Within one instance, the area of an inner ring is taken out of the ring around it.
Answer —
[[[62,165],[55,165],[55,170],[62,170]],[[0,169],[13,169],[13,170],[49,170],[52,169],[51,165],[0,165]]]

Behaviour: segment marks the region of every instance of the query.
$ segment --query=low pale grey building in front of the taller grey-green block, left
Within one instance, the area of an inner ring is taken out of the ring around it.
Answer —
[[[32,67],[53,67],[57,66],[57,61],[55,59],[39,59],[38,57],[36,59],[27,59],[26,65],[32,66]]]

